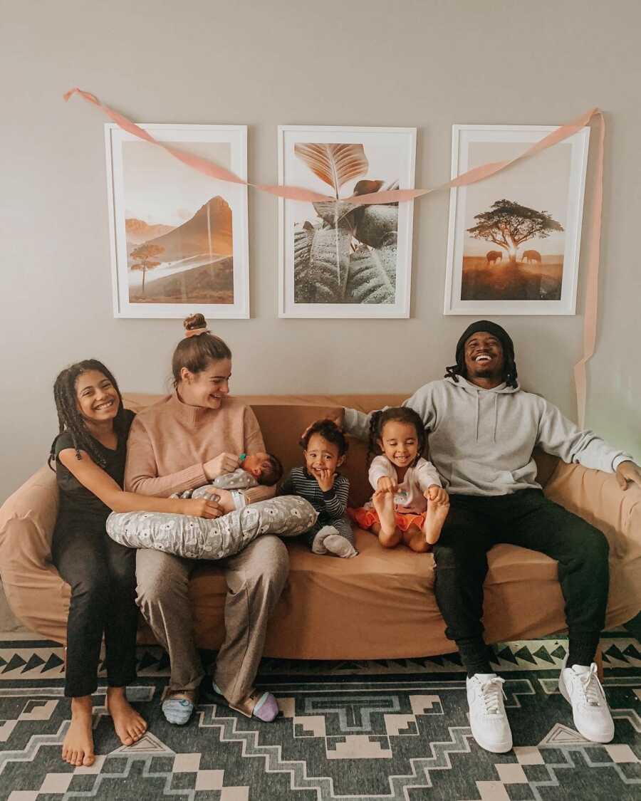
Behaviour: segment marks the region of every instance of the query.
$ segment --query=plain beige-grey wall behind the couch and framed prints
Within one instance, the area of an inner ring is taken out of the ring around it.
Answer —
[[[124,389],[161,392],[182,330],[112,317],[105,120],[62,102],[74,86],[141,122],[247,123],[249,175],[270,183],[279,123],[416,126],[425,187],[449,178],[452,123],[555,124],[599,105],[607,164],[588,423],[641,456],[640,23],[635,0],[3,4],[0,501],[46,456],[58,369],[96,356]],[[235,392],[409,392],[441,376],[470,322],[441,314],[447,192],[416,203],[411,319],[336,322],[277,319],[277,203],[249,197],[252,320],[213,324],[235,353]],[[499,320],[526,385],[570,417],[583,290],[582,280],[577,316]]]

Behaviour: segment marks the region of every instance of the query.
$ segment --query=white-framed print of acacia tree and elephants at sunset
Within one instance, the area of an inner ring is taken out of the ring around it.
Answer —
[[[454,125],[451,177],[513,158],[554,130],[542,125]],[[450,190],[446,315],[575,313],[589,139],[590,129],[582,128],[490,178]],[[523,207],[535,214],[519,228],[528,219],[519,216]],[[510,219],[512,227],[499,234],[499,219]],[[514,249],[514,239],[536,227],[539,233]],[[494,239],[487,239],[488,234]]]

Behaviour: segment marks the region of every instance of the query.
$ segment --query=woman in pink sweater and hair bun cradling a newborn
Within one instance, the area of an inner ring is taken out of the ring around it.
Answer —
[[[184,493],[238,469],[239,454],[264,452],[252,409],[228,398],[232,352],[208,331],[202,315],[188,317],[184,325],[186,336],[172,360],[175,391],[140,412],[131,425],[125,468],[125,489],[130,492],[155,497]],[[258,485],[243,494],[255,502],[274,492]],[[215,493],[220,496],[220,513],[235,508],[224,489],[216,488]],[[276,699],[271,693],[256,692],[253,682],[268,617],[288,577],[287,549],[278,537],[265,535],[218,564],[224,570],[228,596],[214,690],[232,709],[272,721],[278,714]],[[151,549],[139,550],[136,557],[138,603],[171,662],[163,714],[178,725],[191,717],[204,678],[188,595],[189,578],[197,565]]]

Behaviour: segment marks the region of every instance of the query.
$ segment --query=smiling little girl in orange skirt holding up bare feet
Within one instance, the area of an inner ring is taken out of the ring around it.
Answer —
[[[385,548],[404,542],[417,553],[431,549],[450,510],[450,498],[425,449],[421,417],[405,406],[374,412],[369,429],[372,500],[349,516],[377,534]]]

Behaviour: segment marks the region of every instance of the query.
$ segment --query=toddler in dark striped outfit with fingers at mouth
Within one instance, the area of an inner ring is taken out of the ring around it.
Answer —
[[[349,480],[337,473],[345,461],[345,435],[331,420],[311,425],[300,441],[304,465],[292,468],[280,495],[300,495],[318,512],[318,520],[304,536],[313,553],[357,556],[352,525],[346,515]]]

